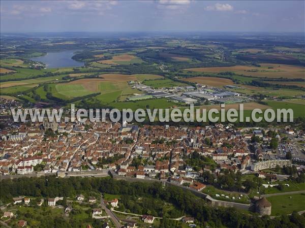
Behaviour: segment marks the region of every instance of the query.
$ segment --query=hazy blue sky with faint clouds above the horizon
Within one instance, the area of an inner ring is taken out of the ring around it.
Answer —
[[[304,1],[0,1],[1,32],[304,32]]]

